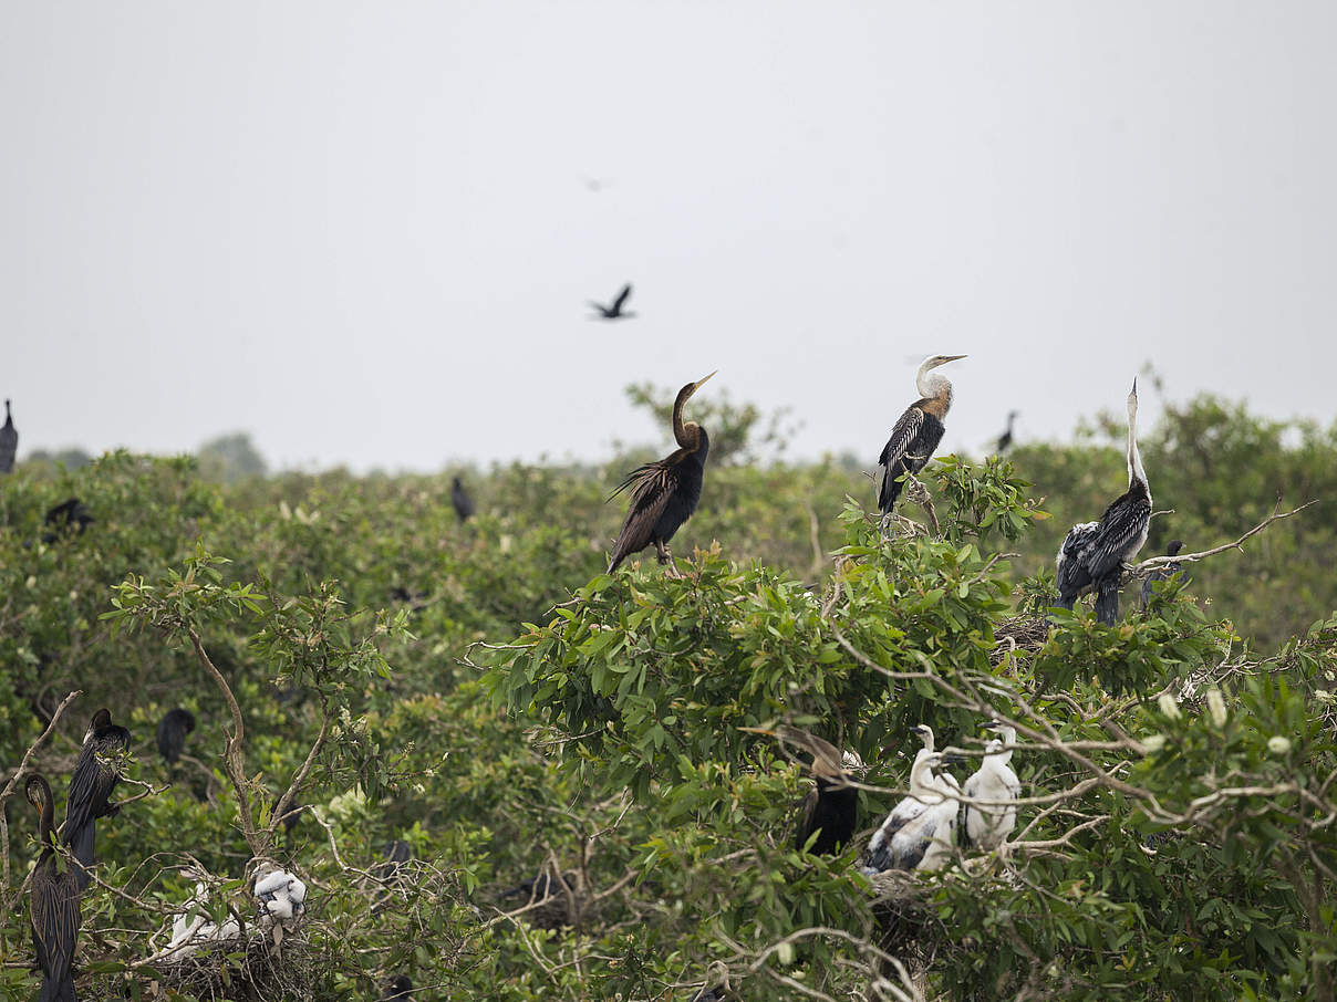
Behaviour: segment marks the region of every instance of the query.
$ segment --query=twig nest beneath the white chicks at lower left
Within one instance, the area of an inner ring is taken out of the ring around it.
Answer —
[[[320,971],[330,957],[295,937],[282,947],[270,937],[219,941],[179,958],[154,963],[148,998],[168,990],[201,1002],[314,1002]]]

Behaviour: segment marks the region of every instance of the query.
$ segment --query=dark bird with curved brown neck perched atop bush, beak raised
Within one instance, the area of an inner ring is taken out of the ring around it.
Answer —
[[[668,540],[697,510],[706,457],[710,454],[710,436],[706,434],[706,429],[695,421],[683,424],[682,409],[714,374],[678,390],[678,398],[673,405],[673,437],[678,442],[678,450],[658,462],[647,462],[632,470],[608,497],[611,501],[627,488],[632,492],[627,517],[622,522],[618,540],[612,544],[610,574],[623,560],[651,544],[655,546],[659,562],[673,565]],[[677,565],[673,568],[673,574],[679,576]]]

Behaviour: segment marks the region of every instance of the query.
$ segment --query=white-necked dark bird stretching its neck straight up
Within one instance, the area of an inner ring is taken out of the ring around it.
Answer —
[[[1068,529],[1059,548],[1059,608],[1071,609],[1087,592],[1095,592],[1095,616],[1106,625],[1119,619],[1119,580],[1123,565],[1147,541],[1151,526],[1151,488],[1138,452],[1138,381],[1128,393],[1128,489],[1100,516],[1099,522],[1080,522]]]

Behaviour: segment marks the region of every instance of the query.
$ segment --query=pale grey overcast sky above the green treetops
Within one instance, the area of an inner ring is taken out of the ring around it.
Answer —
[[[1067,438],[1148,362],[1329,424],[1333,37],[1330,0],[5,4],[0,394],[20,457],[354,470],[606,458],[666,438],[626,385],[715,369],[872,466],[939,353],[943,452]]]

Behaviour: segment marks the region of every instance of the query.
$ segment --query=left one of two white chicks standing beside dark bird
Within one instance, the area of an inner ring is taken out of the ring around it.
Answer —
[[[888,870],[937,870],[956,836],[952,786],[935,772],[943,752],[923,749],[910,766],[909,796],[896,804],[868,842],[866,876]]]

